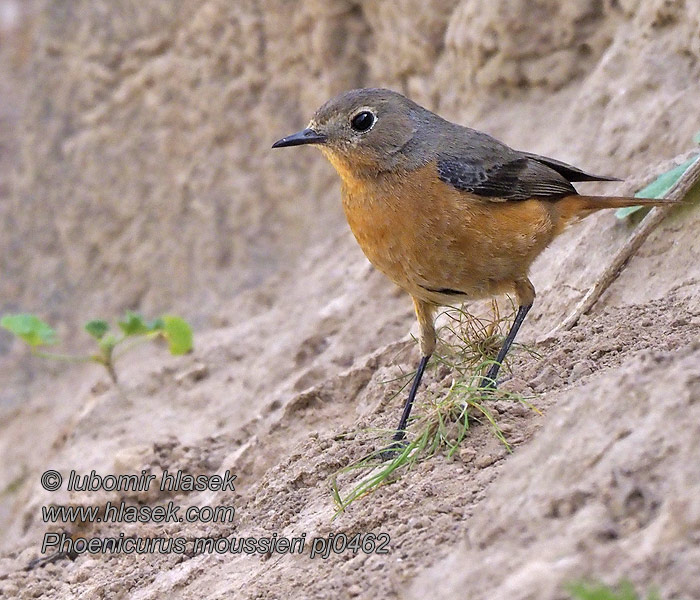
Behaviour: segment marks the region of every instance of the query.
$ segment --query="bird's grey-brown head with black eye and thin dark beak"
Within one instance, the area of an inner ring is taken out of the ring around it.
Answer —
[[[391,90],[357,89],[331,98],[306,129],[273,148],[316,144],[341,176],[412,169],[425,162],[437,115]]]

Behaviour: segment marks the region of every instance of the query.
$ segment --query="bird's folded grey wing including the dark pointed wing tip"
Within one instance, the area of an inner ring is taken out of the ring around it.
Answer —
[[[616,181],[553,158],[518,152],[486,134],[467,131],[463,150],[453,147],[437,157],[440,179],[460,191],[493,201],[558,200],[577,193],[572,181]]]

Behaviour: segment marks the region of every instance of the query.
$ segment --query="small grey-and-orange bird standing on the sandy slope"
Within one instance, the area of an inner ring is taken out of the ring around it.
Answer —
[[[540,252],[597,210],[663,202],[581,196],[571,182],[619,179],[514,150],[385,89],[332,98],[272,147],[302,144],[317,146],[340,175],[345,216],[369,261],[413,298],[421,359],[396,444],[435,349],[437,307],[515,295],[515,320],[480,383],[493,388],[535,299],[528,271]]]

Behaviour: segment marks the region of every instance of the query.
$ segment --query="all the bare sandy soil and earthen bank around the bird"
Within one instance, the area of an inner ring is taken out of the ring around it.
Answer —
[[[3,147],[20,150],[0,156],[12,172],[0,188],[0,308],[41,312],[69,339],[88,309],[172,309],[196,337],[185,357],[125,356],[119,387],[97,366],[30,360],[0,337],[0,597],[564,600],[580,578],[700,597],[700,188],[590,314],[546,343],[638,219],[591,217],[536,262],[522,341],[541,358],[516,354],[503,388],[532,395],[540,413],[490,404],[512,452],[475,423],[454,458],[418,463],[334,519],[329,477],[381,447],[368,430],[398,418],[395,379],[418,358],[414,316],[356,247],[330,168],[268,152],[332,91],[382,84],[517,147],[627,177],[581,189],[631,193],[697,152],[700,9],[351,4],[297,14],[144,0],[109,28],[108,2],[36,5],[13,71],[24,84],[7,114],[19,123],[3,130]],[[32,251],[13,254],[25,240]],[[452,377],[431,368],[422,402]],[[235,492],[47,492],[49,468],[237,479]],[[25,570],[56,529],[42,506],[122,500],[236,513],[68,529],[387,533],[389,553],[96,554]]]

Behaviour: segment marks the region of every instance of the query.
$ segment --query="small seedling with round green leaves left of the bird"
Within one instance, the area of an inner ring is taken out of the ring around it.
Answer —
[[[58,343],[53,328],[36,315],[12,314],[0,319],[4,327],[29,344],[34,356],[65,360],[69,362],[95,362],[107,369],[110,378],[117,383],[114,368],[116,358],[137,343],[164,338],[173,355],[186,354],[192,349],[192,329],[184,319],[174,315],[163,315],[153,321],[145,321],[141,315],[127,311],[124,319],[117,322],[117,332],[111,333],[110,325],[102,319],[88,321],[87,331],[97,342],[97,352],[86,355],[61,354],[43,350]]]

